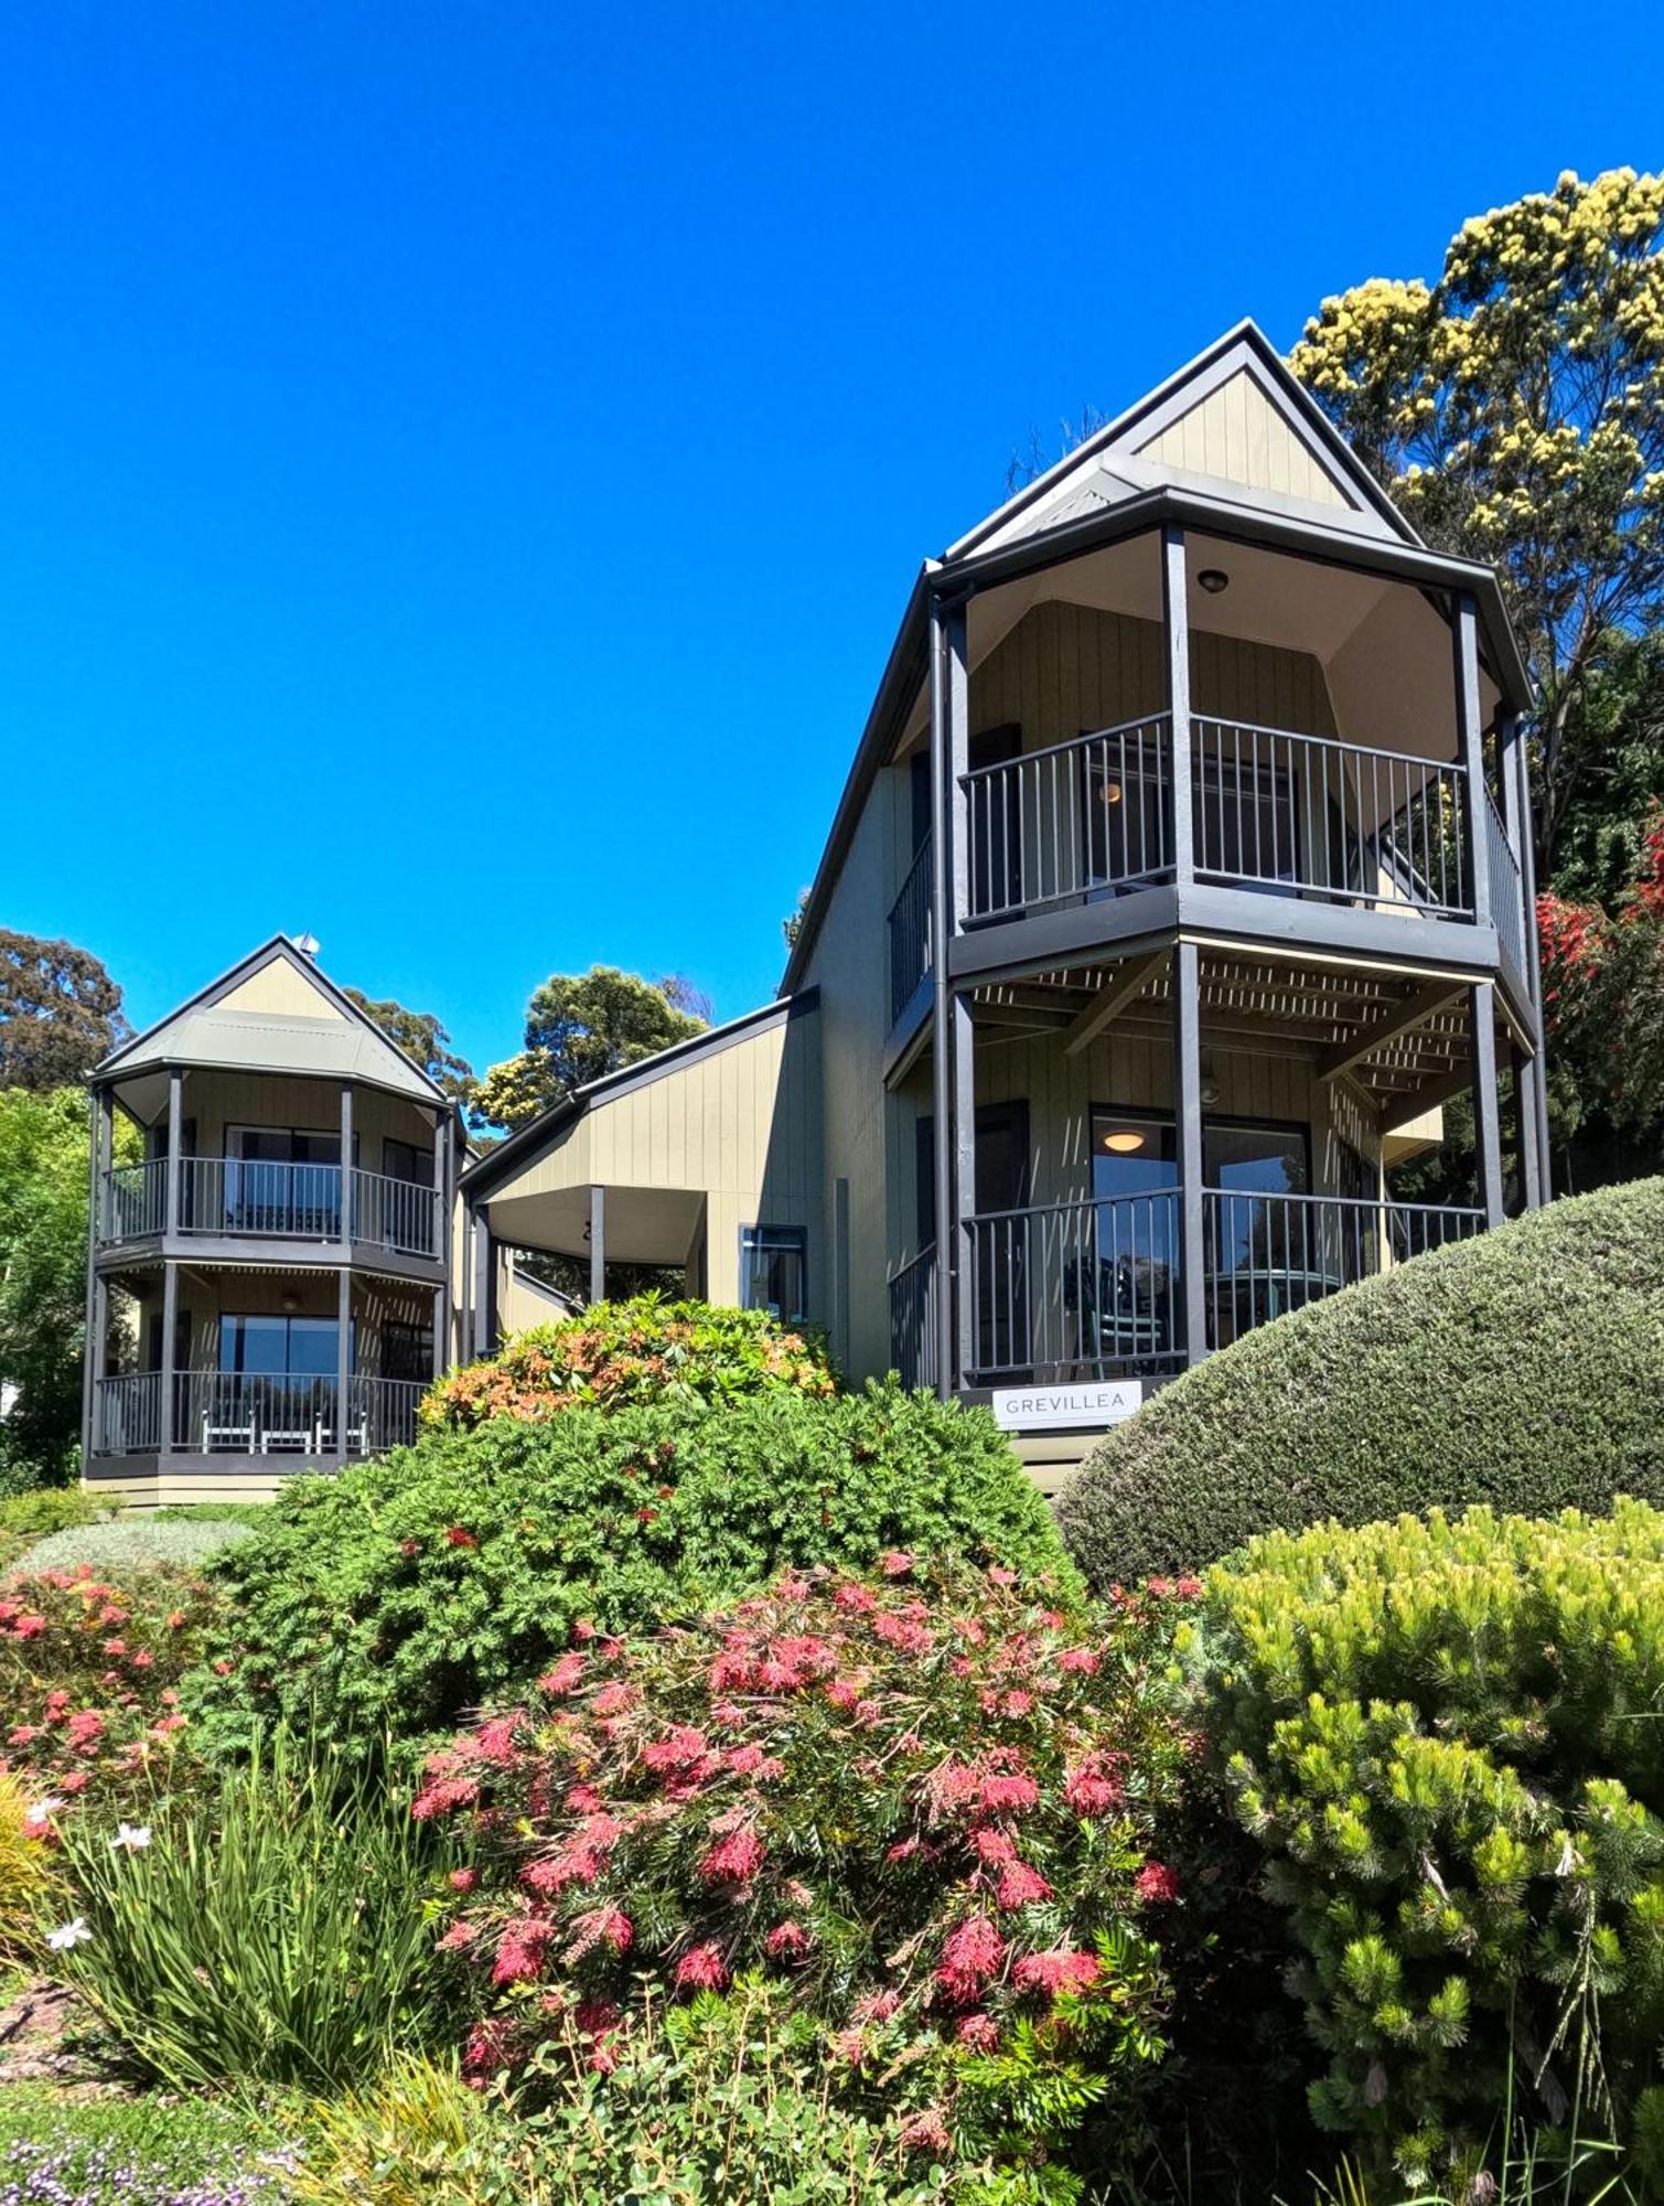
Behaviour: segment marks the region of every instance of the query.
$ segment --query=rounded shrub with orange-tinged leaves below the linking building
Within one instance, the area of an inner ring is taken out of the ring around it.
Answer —
[[[578,1403],[737,1401],[770,1388],[830,1394],[832,1383],[825,1357],[768,1310],[638,1295],[519,1332],[501,1354],[439,1379],[419,1416],[468,1429],[490,1416],[538,1423]]]

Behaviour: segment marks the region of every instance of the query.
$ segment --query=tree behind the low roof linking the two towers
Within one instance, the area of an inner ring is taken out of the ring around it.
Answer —
[[[605,1072],[704,1032],[708,1008],[678,975],[649,982],[618,966],[552,973],[525,1006],[525,1050],[479,1083],[479,1114],[510,1132],[530,1125]]]

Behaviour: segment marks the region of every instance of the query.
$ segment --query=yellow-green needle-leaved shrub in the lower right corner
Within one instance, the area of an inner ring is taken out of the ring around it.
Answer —
[[[1503,2107],[1664,2138],[1664,1513],[1269,1533],[1209,1573],[1192,1652],[1318,2122],[1419,2186]]]

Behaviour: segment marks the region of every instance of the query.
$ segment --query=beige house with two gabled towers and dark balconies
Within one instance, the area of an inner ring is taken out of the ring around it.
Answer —
[[[296,953],[117,1052],[99,1112],[150,1154],[97,1160],[90,1273],[139,1368],[95,1308],[88,1469],[380,1447],[543,1249],[991,1401],[1050,1480],[1185,1363],[1547,1196],[1529,706],[1492,569],[1231,331],[925,563],[775,1004],[472,1163]],[[1465,1092],[1472,1200],[1395,1200]]]

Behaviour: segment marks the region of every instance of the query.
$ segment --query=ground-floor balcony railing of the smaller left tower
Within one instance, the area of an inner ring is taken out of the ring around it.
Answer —
[[[415,1441],[422,1379],[263,1372],[124,1372],[93,1383],[95,1456],[382,1456]],[[163,1412],[172,1405],[170,1429]]]

